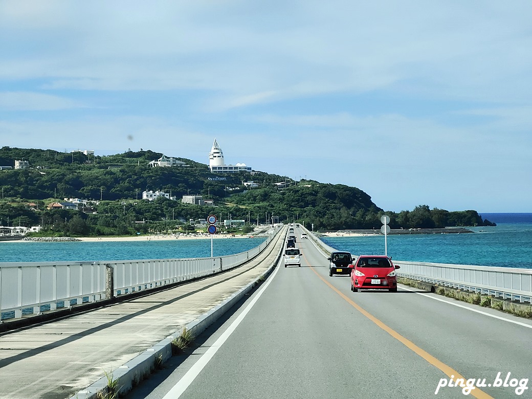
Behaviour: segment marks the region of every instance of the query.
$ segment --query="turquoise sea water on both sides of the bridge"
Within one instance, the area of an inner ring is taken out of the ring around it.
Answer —
[[[471,227],[474,234],[388,236],[395,260],[532,268],[532,213],[483,213],[495,227]],[[244,252],[262,238],[215,239],[214,256]],[[323,238],[353,254],[384,254],[384,236]],[[0,262],[175,259],[211,256],[211,240],[138,242],[0,243]]]

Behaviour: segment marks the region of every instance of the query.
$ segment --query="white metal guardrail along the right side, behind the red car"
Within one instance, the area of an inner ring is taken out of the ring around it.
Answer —
[[[326,252],[341,251],[311,237]],[[355,254],[353,254],[355,255]],[[500,268],[447,263],[393,261],[398,277],[532,304],[532,269]]]

